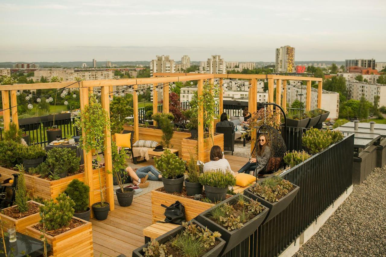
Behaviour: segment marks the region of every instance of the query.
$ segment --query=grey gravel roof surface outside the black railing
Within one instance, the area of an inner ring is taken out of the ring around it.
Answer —
[[[386,165],[376,168],[294,256],[386,256]]]

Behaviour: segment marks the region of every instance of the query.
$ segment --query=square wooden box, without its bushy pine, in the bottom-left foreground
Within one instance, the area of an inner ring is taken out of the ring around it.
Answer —
[[[76,217],[73,218],[80,220]],[[47,242],[51,245],[52,249],[48,252],[48,254],[58,257],[94,256],[91,222],[84,220],[83,222],[86,223],[80,227],[73,228],[54,237],[46,234]],[[30,237],[40,239],[43,233],[35,228],[32,228],[34,225],[27,227],[25,234]]]

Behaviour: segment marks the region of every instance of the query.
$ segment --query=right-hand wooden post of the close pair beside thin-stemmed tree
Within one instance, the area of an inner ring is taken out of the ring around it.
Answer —
[[[110,101],[108,100],[109,86],[102,86],[101,100],[102,108],[106,110],[110,120]],[[111,156],[111,131],[105,127],[105,176],[106,176],[106,200],[110,203],[110,211],[114,210],[114,186],[113,186],[113,164]]]

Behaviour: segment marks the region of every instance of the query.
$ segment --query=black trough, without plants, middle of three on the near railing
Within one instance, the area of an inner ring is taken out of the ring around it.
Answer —
[[[237,198],[240,195],[242,194],[236,194],[198,215],[198,222],[200,222],[204,226],[207,226],[211,231],[218,231],[221,233],[221,238],[225,241],[225,247],[223,248],[219,256],[229,252],[235,246],[239,245],[239,243],[243,242],[250,235],[252,235],[253,232],[256,231],[257,227],[259,227],[260,224],[264,221],[264,219],[268,214],[269,209],[264,206],[265,207],[264,210],[261,213],[259,213],[255,218],[252,218],[251,220],[249,220],[247,223],[244,224],[243,227],[237,228],[232,231],[229,231],[226,228],[222,227],[221,225],[218,225],[217,223],[215,223],[214,221],[210,220],[210,218],[207,217],[211,210],[213,210],[214,208],[220,205],[223,205],[224,203],[229,203],[229,204],[234,203],[235,201],[237,201]],[[248,201],[251,201],[251,198],[246,196],[245,198]]]

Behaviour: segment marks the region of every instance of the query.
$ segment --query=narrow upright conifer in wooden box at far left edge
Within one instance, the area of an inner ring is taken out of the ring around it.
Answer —
[[[20,173],[15,190],[16,205],[3,209],[0,216],[5,231],[10,227],[15,227],[17,232],[24,233],[26,227],[39,221],[39,206],[42,204],[35,201],[28,201],[24,167],[19,165],[17,169],[19,169]]]

